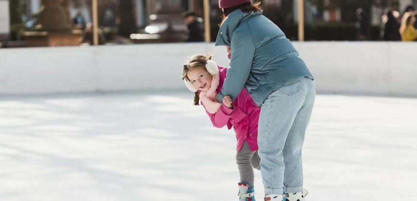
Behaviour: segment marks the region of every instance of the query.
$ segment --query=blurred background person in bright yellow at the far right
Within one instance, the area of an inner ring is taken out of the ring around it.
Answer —
[[[402,16],[400,35],[402,41],[415,41],[417,39],[417,31],[414,28],[416,22],[416,12],[407,12]]]

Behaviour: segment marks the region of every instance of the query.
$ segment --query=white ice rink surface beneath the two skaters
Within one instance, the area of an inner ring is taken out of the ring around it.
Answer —
[[[238,201],[234,133],[192,98],[0,98],[0,201]],[[415,197],[416,98],[319,94],[306,135],[307,201]]]

